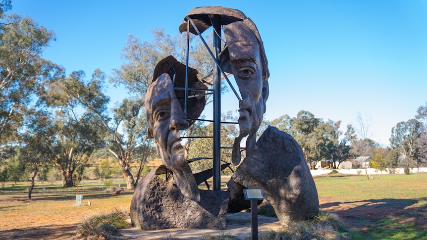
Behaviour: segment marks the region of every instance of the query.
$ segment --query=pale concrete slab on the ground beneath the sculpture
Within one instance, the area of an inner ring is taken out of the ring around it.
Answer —
[[[278,230],[280,223],[277,218],[258,216],[258,233],[262,231]],[[242,239],[251,236],[251,213],[239,212],[227,214],[227,226],[225,230],[212,229],[162,229],[145,231],[137,228],[120,230],[119,233],[129,238],[142,238],[147,240],[167,239],[166,236],[174,239],[198,240],[207,234],[227,233]]]

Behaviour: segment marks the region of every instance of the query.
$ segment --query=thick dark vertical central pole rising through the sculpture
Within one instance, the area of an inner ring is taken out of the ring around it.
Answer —
[[[213,15],[214,27],[214,54],[219,63],[221,52],[221,15]],[[215,34],[216,32],[216,34]],[[221,72],[219,66],[214,64],[214,182],[213,189],[221,190]]]

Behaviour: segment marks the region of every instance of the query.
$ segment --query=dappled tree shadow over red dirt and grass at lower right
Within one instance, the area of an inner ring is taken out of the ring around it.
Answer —
[[[427,197],[330,202],[320,208],[338,215],[361,239],[427,239]]]

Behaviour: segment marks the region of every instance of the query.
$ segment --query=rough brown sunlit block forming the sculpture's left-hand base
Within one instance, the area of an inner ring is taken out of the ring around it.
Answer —
[[[142,178],[133,194],[132,226],[142,230],[225,229],[229,193],[200,190],[200,198],[199,202],[190,200],[153,170]]]

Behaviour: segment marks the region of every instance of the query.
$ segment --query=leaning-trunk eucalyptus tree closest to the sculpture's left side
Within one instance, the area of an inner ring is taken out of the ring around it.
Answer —
[[[109,111],[109,96],[104,94],[106,75],[101,70],[95,70],[89,81],[85,80],[82,71],[73,72],[71,76],[63,81],[64,93],[91,116],[88,124],[102,130],[87,142],[91,143],[91,147],[107,149],[118,160],[127,188],[135,188],[137,181],[131,168],[135,162],[145,163],[153,152],[152,142],[143,141],[147,132],[145,114],[142,111],[144,101],[125,98]],[[100,142],[96,143],[97,140]],[[142,170],[142,166],[139,168]],[[140,170],[138,171],[139,176]]]

